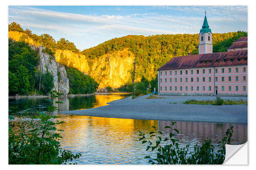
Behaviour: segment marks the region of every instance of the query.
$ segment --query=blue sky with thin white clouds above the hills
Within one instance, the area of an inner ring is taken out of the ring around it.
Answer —
[[[204,11],[212,33],[247,31],[247,6],[9,6],[8,22],[84,50],[126,35],[198,34]]]

